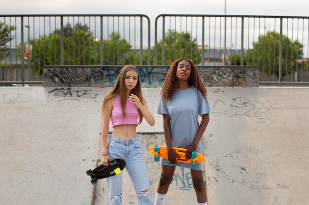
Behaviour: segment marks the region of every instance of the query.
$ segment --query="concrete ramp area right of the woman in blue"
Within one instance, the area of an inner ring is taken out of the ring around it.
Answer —
[[[309,89],[209,89],[210,205],[309,204]]]

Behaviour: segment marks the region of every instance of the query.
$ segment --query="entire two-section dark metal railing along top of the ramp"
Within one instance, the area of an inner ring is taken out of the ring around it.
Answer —
[[[261,84],[309,84],[309,17],[162,14],[154,48],[146,15],[0,15],[0,23],[1,32],[11,29],[10,40],[0,40],[1,85],[41,84],[44,65],[170,65],[178,58],[259,66]]]

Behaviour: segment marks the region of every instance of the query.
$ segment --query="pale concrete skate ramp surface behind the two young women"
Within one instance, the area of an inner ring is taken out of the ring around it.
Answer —
[[[0,87],[1,205],[108,205],[100,159],[101,106],[110,88]],[[160,88],[143,88],[156,125],[138,126],[155,196],[161,167]],[[308,205],[309,88],[208,88],[203,137],[209,205]],[[126,171],[123,204],[138,204]],[[177,169],[166,205],[197,204],[190,170]]]

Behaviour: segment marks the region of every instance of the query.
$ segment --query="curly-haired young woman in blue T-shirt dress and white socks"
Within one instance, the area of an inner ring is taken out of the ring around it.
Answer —
[[[206,188],[202,174],[203,163],[191,167],[190,163],[176,162],[179,155],[172,147],[185,147],[186,158],[191,152],[203,153],[201,137],[209,122],[210,108],[207,101],[207,90],[201,81],[200,74],[189,59],[177,59],[167,72],[161,90],[161,101],[158,113],[163,115],[165,144],[168,160],[162,159],[162,173],[157,188],[154,205],[163,205],[168,187],[173,180],[176,166],[191,169],[193,187],[199,205],[207,205]],[[202,117],[199,124],[198,115]]]

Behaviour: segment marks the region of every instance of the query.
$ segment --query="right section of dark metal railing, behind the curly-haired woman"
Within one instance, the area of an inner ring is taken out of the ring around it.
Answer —
[[[309,17],[162,14],[155,19],[155,65],[179,58],[197,65],[255,65],[260,84],[309,84],[308,45]]]

